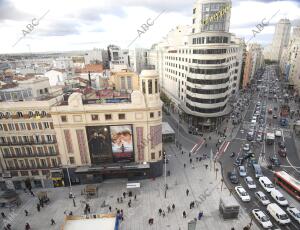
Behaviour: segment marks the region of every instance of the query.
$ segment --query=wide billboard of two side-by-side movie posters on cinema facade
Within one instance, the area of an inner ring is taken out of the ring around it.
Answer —
[[[132,125],[86,127],[92,164],[134,161]]]

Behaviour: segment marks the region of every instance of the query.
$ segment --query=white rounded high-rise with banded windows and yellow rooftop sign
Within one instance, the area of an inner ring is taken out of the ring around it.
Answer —
[[[178,26],[152,47],[162,91],[190,126],[214,130],[239,87],[243,41],[229,33],[230,0],[197,0],[192,26]]]

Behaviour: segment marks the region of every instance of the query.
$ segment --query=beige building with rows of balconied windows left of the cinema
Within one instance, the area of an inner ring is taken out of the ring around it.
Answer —
[[[46,78],[19,79],[9,85],[0,91],[1,189],[63,186],[49,113],[62,96],[50,93]]]

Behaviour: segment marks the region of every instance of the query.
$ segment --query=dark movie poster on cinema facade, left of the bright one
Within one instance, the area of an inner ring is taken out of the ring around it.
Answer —
[[[109,126],[86,127],[92,164],[113,162]]]

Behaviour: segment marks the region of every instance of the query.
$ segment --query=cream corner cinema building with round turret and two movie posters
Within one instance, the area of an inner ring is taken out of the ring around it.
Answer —
[[[73,93],[51,108],[65,185],[162,174],[158,75],[114,75],[114,86]]]

